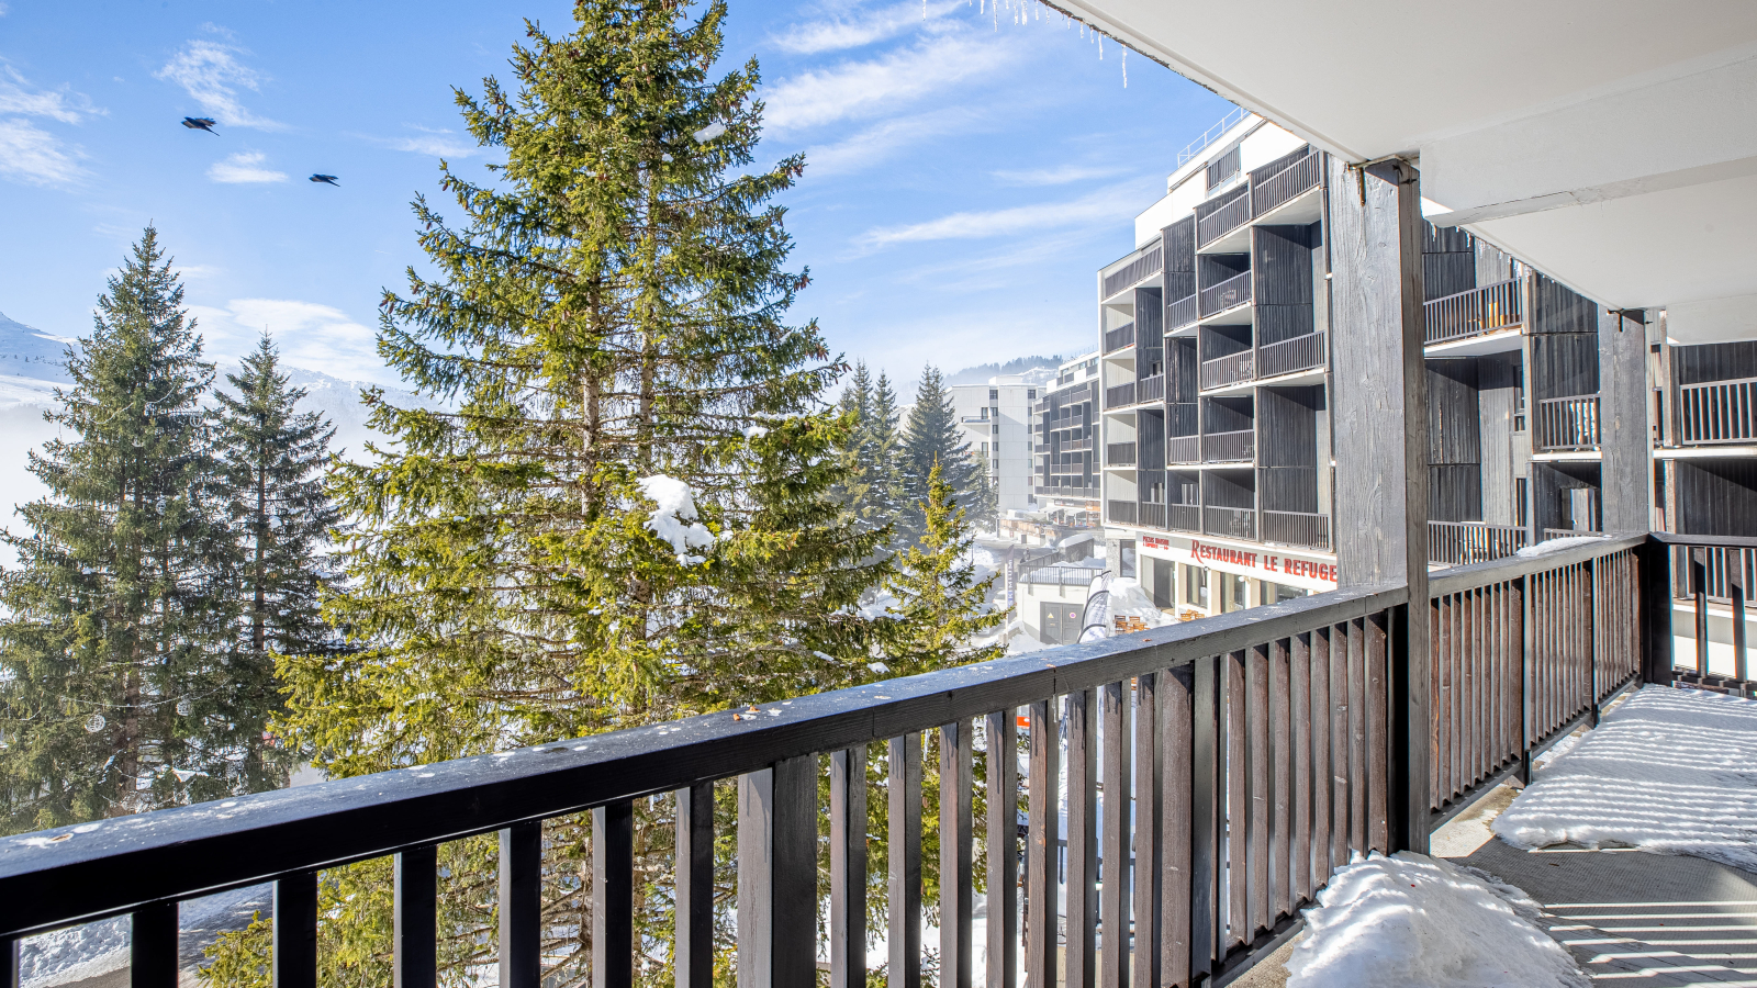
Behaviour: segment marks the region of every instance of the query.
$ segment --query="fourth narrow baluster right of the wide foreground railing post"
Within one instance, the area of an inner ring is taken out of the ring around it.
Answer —
[[[1014,710],[987,717],[987,988],[1019,983],[1019,737]],[[854,986],[864,988],[864,986]]]

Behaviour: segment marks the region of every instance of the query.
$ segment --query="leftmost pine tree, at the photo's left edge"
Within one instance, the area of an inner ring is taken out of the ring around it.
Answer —
[[[0,582],[0,807],[9,832],[276,788],[272,679],[232,654],[232,540],[199,401],[213,381],[146,229],[69,348],[32,454],[49,496]]]

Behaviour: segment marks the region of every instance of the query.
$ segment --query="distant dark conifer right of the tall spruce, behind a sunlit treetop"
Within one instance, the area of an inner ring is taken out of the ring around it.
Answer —
[[[972,454],[970,443],[959,438],[958,413],[952,410],[952,392],[940,371],[928,364],[921,371],[915,404],[908,410],[903,432],[900,475],[903,489],[903,522],[900,534],[905,543],[926,538],[922,505],[931,501],[928,475],[938,464],[945,485],[958,506],[973,524],[993,520],[987,492],[987,464]]]

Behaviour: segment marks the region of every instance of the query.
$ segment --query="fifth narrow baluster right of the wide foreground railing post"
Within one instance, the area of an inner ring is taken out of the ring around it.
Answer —
[[[1024,977],[1033,986],[1056,983],[1058,860],[1061,851],[1061,735],[1054,700],[1031,703],[1031,761],[1026,788]]]

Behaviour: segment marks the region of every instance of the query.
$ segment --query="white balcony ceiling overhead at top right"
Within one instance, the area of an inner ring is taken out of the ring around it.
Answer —
[[[1757,338],[1750,0],[1063,0],[1316,146],[1421,167],[1465,225],[1683,341]]]

